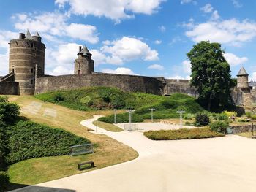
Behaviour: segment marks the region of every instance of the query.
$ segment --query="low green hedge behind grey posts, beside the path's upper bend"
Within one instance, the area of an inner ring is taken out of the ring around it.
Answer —
[[[99,121],[105,122],[105,123],[114,123],[114,115],[108,115],[107,117],[102,117],[98,119]],[[116,115],[116,122],[117,123],[128,123],[129,122],[129,114],[121,113]],[[132,113],[132,122],[143,122],[143,118],[140,117],[140,115]]]

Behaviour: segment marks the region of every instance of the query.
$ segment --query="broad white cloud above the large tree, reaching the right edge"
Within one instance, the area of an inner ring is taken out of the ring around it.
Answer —
[[[256,23],[250,20],[209,20],[195,25],[186,32],[194,42],[207,41],[241,45],[256,37]]]

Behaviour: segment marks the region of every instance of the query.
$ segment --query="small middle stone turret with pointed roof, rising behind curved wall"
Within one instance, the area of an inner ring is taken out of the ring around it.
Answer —
[[[78,58],[75,59],[75,74],[91,74],[94,72],[94,61],[88,48],[79,46]]]

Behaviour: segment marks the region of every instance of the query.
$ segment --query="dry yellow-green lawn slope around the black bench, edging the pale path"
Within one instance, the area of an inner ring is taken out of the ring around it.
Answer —
[[[33,158],[20,161],[10,166],[8,173],[10,181],[23,185],[33,185],[78,174],[77,164],[83,161],[94,161],[99,169],[113,164],[120,164],[138,157],[138,153],[131,147],[117,142],[110,137],[91,134],[86,127],[80,125],[81,120],[92,118],[98,112],[82,112],[68,109],[56,104],[40,101],[31,96],[10,96],[10,101],[15,101],[21,107],[21,115],[36,123],[62,128],[75,135],[89,139],[98,147],[95,153],[71,157],[69,155]],[[37,107],[35,107],[37,106]],[[38,107],[39,106],[39,107]],[[34,109],[37,108],[37,111]],[[56,112],[56,117],[47,115],[47,111]],[[102,111],[102,115],[110,115],[112,111]],[[91,170],[91,169],[89,169]],[[83,172],[88,172],[84,170]]]

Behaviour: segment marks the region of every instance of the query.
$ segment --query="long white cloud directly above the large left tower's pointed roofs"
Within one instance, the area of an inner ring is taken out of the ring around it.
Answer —
[[[26,18],[25,20],[23,18]],[[15,21],[15,28],[25,31],[27,28],[39,31],[46,38],[53,40],[55,37],[72,37],[90,43],[99,42],[97,28],[81,23],[67,23],[68,16],[57,12],[45,12],[41,15],[28,14],[21,17],[12,15]]]

